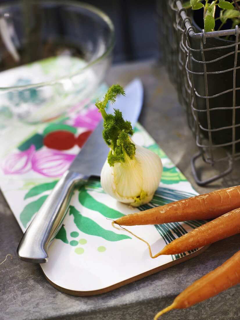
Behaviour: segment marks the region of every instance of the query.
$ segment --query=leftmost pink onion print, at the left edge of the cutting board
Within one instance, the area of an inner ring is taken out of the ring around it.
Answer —
[[[26,151],[7,155],[1,162],[4,174],[23,174],[32,169],[32,157],[35,146],[31,145]]]

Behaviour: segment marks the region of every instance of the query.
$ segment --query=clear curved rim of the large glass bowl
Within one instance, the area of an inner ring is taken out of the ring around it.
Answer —
[[[59,77],[59,78],[55,78],[49,81],[45,81],[45,82],[39,82],[39,83],[35,83],[35,84],[27,84],[27,85],[21,85],[21,86],[14,86],[14,87],[0,87],[1,91],[8,91],[8,90],[26,90],[26,89],[30,89],[30,88],[36,88],[36,87],[41,87],[41,86],[45,86],[45,85],[51,85],[57,82],[60,82],[62,80],[71,78],[73,76],[76,76],[78,74],[80,74],[82,71],[85,71],[88,68],[91,68],[94,64],[97,64],[100,60],[102,60],[103,58],[105,58],[107,55],[110,54],[110,52],[112,51],[114,44],[115,44],[115,29],[114,29],[114,25],[112,23],[112,20],[109,18],[109,16],[103,12],[101,9],[98,9],[97,7],[91,5],[91,4],[87,4],[87,3],[83,3],[80,1],[73,1],[73,0],[50,0],[50,1],[45,1],[45,0],[31,0],[30,3],[34,4],[57,4],[57,5],[67,5],[67,6],[75,6],[75,7],[79,7],[79,8],[84,8],[87,9],[91,12],[94,12],[95,14],[97,14],[102,20],[104,20],[111,32],[111,42],[109,44],[109,46],[106,48],[105,52],[98,57],[96,60],[91,61],[90,63],[88,63],[85,67],[79,69],[78,71],[75,71],[73,73],[69,73],[66,76],[63,77]],[[14,6],[22,6],[21,3],[19,2],[12,2],[12,3],[5,3],[5,4],[1,4],[0,5],[0,11],[2,9],[6,9],[6,8],[11,8]],[[8,69],[6,69],[8,70]],[[4,70],[5,71],[5,70]]]

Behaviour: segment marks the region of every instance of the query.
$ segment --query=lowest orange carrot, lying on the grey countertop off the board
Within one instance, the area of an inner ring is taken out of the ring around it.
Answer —
[[[157,320],[159,316],[169,310],[191,307],[238,283],[240,283],[240,251],[236,252],[220,267],[209,272],[183,290],[169,307],[156,314],[154,320]]]

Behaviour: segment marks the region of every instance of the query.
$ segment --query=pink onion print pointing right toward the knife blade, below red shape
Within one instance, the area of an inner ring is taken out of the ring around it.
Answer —
[[[53,149],[42,149],[32,157],[32,169],[46,177],[60,177],[68,169],[76,155]]]

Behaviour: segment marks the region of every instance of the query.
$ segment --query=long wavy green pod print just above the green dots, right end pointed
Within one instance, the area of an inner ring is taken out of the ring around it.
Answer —
[[[74,216],[74,223],[81,232],[84,232],[91,236],[102,237],[108,241],[120,241],[123,239],[131,239],[131,237],[129,236],[119,235],[113,231],[102,228],[92,219],[82,216],[81,213],[72,205],[69,206],[69,209],[69,214],[72,214]]]

